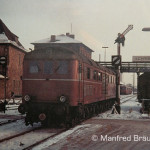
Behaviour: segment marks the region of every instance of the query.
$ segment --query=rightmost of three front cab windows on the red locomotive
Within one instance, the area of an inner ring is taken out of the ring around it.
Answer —
[[[58,74],[67,74],[68,73],[68,62],[67,61],[59,61],[55,72],[57,72]]]

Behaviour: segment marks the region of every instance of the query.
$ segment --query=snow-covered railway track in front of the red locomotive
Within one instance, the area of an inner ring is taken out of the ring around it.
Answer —
[[[18,150],[30,150],[46,140],[53,139],[55,136],[67,131],[67,129],[49,129],[49,128],[42,128],[36,127],[34,129],[30,129],[28,131],[23,131],[21,133],[3,138],[0,140],[0,145],[3,147],[8,145],[9,143],[14,143],[11,149],[18,149]],[[42,136],[41,136],[42,135]],[[17,146],[16,146],[17,143]],[[20,143],[22,145],[20,145]]]

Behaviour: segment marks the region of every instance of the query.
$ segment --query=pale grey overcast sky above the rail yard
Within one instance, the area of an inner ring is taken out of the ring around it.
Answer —
[[[133,24],[121,48],[123,61],[150,55],[150,32],[141,31],[150,26],[149,0],[0,0],[0,18],[26,49],[36,40],[71,32],[72,23],[75,38],[95,51],[94,60],[100,53],[102,61],[102,46],[109,47],[110,61],[117,52],[117,34]]]

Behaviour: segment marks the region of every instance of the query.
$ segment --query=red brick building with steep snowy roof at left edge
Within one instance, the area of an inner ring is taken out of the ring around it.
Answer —
[[[14,92],[15,95],[22,94],[21,76],[25,53],[26,51],[18,41],[18,37],[0,19],[0,57],[7,58],[6,66],[0,65],[0,99],[4,99],[5,96],[10,98],[11,92]]]

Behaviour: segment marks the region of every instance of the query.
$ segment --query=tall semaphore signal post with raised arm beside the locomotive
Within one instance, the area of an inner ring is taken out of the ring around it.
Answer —
[[[133,25],[129,25],[127,27],[127,29],[121,34],[121,33],[118,33],[118,37],[117,39],[115,40],[115,43],[117,43],[117,55],[118,55],[118,58],[121,58],[121,55],[120,55],[120,48],[121,48],[121,45],[124,46],[124,42],[125,42],[125,35],[133,29]],[[115,44],[114,43],[114,44]],[[120,105],[120,65],[117,66],[117,74],[116,74],[116,98],[117,98],[117,103]],[[120,112],[119,112],[120,113]]]

